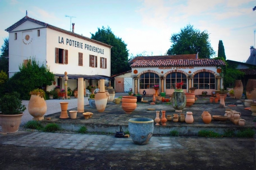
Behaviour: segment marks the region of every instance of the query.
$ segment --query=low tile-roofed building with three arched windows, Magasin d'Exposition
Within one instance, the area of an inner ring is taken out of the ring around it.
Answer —
[[[133,93],[154,94],[154,85],[160,92],[171,95],[176,83],[184,82],[182,89],[189,92],[196,87],[195,94],[223,88],[222,66],[219,59],[199,59],[198,54],[173,56],[139,56],[129,61],[132,67]]]

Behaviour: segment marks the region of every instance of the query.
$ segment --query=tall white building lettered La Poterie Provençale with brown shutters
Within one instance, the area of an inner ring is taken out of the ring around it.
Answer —
[[[111,45],[32,19],[27,15],[6,29],[9,33],[9,77],[19,71],[19,65],[35,58],[39,65],[48,65],[55,82],[47,91],[59,85],[64,88],[64,72],[68,86],[77,87],[83,77],[85,86],[96,85],[98,79],[109,79]],[[70,80],[73,78],[73,80]]]

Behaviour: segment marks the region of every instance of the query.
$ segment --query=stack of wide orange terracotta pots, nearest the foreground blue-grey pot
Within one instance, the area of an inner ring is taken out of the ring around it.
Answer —
[[[132,113],[137,107],[137,97],[122,96],[122,109],[125,113]]]

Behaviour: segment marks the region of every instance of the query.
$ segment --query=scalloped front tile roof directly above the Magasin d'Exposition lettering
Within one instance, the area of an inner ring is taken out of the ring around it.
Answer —
[[[220,59],[166,59],[137,60],[131,67],[167,67],[167,66],[221,66],[225,63]]]

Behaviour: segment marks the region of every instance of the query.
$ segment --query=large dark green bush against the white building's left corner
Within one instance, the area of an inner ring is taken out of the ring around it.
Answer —
[[[24,100],[29,100],[29,92],[36,88],[43,88],[47,85],[52,85],[54,74],[50,72],[48,67],[41,67],[34,58],[29,59],[26,64],[19,66],[19,72],[16,72],[11,77],[8,84],[8,91],[17,91]]]

